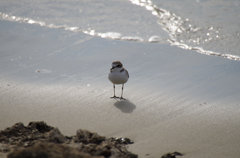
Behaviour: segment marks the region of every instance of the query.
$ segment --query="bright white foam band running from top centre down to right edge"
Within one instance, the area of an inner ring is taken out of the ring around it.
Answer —
[[[162,29],[169,34],[170,39],[168,40],[168,42],[171,45],[175,45],[182,49],[194,50],[198,53],[205,55],[220,56],[230,60],[240,61],[240,57],[237,55],[213,52],[209,50],[204,50],[201,47],[192,47],[182,42],[178,42],[176,36],[186,31],[186,28],[183,27],[184,20],[182,20],[181,17],[176,16],[174,13],[170,13],[169,11],[164,10],[162,8],[161,9],[158,8],[156,5],[153,4],[151,0],[129,0],[129,1],[134,5],[144,7],[146,10],[150,11],[153,16],[157,16],[159,19],[161,19],[161,21],[159,21],[158,23],[162,26]],[[188,21],[188,19],[186,19],[186,21]],[[189,26],[189,28],[187,29],[191,30],[192,32],[196,32],[199,30],[199,28],[193,27],[192,25]],[[151,42],[151,40],[149,40],[149,42]]]

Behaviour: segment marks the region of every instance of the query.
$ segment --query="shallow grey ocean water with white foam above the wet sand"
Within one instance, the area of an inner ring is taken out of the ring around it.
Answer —
[[[240,60],[239,0],[1,0],[0,20]]]

